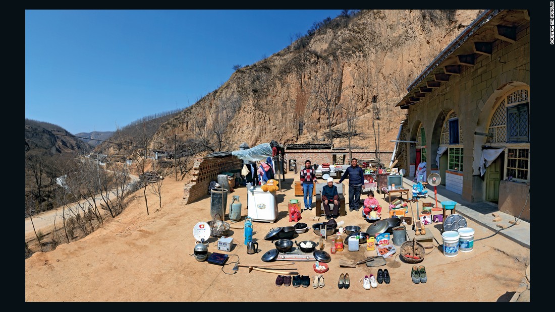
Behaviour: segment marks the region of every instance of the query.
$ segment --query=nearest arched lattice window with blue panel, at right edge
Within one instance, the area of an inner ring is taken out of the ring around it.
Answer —
[[[530,180],[530,121],[529,88],[512,89],[498,99],[488,126],[487,142],[507,147],[504,177]]]

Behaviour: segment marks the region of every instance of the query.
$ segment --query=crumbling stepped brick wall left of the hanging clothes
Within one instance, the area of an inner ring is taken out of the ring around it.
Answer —
[[[193,165],[193,178],[183,188],[185,204],[194,202],[208,195],[211,181],[217,181],[223,172],[240,169],[243,161],[235,156],[197,158]]]

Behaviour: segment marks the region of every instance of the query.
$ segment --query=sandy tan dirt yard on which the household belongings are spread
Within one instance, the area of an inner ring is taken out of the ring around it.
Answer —
[[[530,250],[496,235],[477,241],[472,252],[445,257],[441,249],[434,248],[418,265],[425,265],[428,282],[413,284],[410,277],[412,264],[399,257],[387,259],[391,275],[389,285],[381,284],[375,289],[362,288],[360,279],[376,274],[376,267],[357,265],[356,268],[340,268],[339,260],[361,260],[374,255],[362,249],[359,252],[332,254],[330,269],[324,273],[325,287],[309,288],[276,287],[277,274],[253,271],[240,267],[234,272],[233,262],[238,258],[243,264],[264,264],[261,256],[274,244],[264,237],[271,228],[292,226],[287,217],[287,202],[294,196],[294,173],[287,173],[277,192],[279,217],[276,223],[254,222],[254,239],[261,251],[247,254],[243,244],[243,230],[231,229],[230,236],[238,244],[230,252],[216,248],[216,238],[209,239],[209,252],[230,254],[228,265],[198,262],[193,257],[195,238],[193,226],[199,221],[210,220],[210,197],[183,204],[182,181],[168,177],[164,180],[162,209],[158,198],[147,194],[150,216],[147,216],[142,196],[136,196],[130,206],[113,221],[108,222],[89,236],[77,242],[59,245],[47,253],[37,252],[25,260],[26,301],[509,301],[519,287],[529,265]],[[344,182],[347,185],[347,181]],[[142,192],[142,191],[139,191]],[[148,193],[148,192],[147,192]],[[346,190],[348,194],[348,189]],[[142,195],[142,194],[141,194]],[[246,188],[239,187],[230,195],[240,196],[246,207]],[[362,198],[365,198],[364,195]],[[376,198],[387,207],[384,197]],[[231,201],[229,196],[228,205]],[[431,198],[423,201],[432,201]],[[229,207],[228,207],[229,210]],[[348,209],[347,209],[348,210]],[[386,210],[385,210],[386,211]],[[243,210],[243,217],[247,210]],[[311,226],[315,209],[302,213],[304,222]],[[369,226],[360,212],[349,213],[337,221],[347,225]],[[468,221],[475,229],[475,239],[493,234],[492,231]],[[228,221],[229,222],[229,221]],[[442,242],[440,223],[428,226],[439,243]],[[243,225],[243,221],[236,223]],[[407,229],[407,231],[410,231]],[[293,240],[317,241],[312,231],[295,234]],[[325,250],[330,252],[331,238]],[[437,246],[436,242],[433,242]],[[361,245],[362,247],[362,245]],[[427,250],[428,252],[430,250]],[[313,262],[295,262],[301,275],[316,274]],[[341,273],[349,273],[351,287],[337,288]]]

